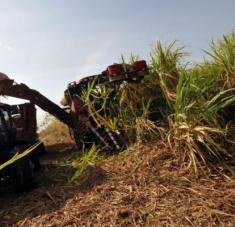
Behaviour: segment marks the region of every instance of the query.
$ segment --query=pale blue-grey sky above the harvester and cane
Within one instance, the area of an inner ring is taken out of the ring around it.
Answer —
[[[157,40],[178,40],[200,62],[235,29],[234,9],[234,0],[0,0],[0,72],[59,103],[69,82],[121,54],[148,60]]]

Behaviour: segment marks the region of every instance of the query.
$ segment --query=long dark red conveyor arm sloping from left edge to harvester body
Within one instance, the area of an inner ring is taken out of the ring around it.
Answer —
[[[30,89],[25,84],[16,84],[14,80],[0,81],[0,95],[29,100],[31,103],[52,114],[69,127],[74,128],[73,121],[69,113],[38,91]]]

